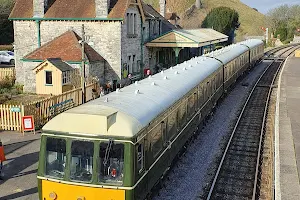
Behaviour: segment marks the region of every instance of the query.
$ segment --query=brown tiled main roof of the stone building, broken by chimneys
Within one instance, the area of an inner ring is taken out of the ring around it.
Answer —
[[[131,0],[110,0],[107,18],[124,18]],[[139,1],[139,0],[138,0]],[[32,18],[33,0],[16,0],[9,18]],[[56,0],[44,18],[95,18],[95,0]]]

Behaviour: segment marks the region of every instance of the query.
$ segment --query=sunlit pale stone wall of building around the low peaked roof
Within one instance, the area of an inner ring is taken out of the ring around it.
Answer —
[[[88,42],[105,60],[107,75],[111,79],[121,78],[121,22],[78,22],[78,21],[42,21],[40,24],[41,44],[50,42],[68,30],[73,30],[81,35],[82,23],[85,24],[85,34]],[[34,21],[15,21],[15,45],[16,45],[16,76],[17,82],[24,84],[26,92],[35,92],[35,76],[30,73],[37,63],[22,62],[28,53],[38,47],[37,24]],[[112,73],[113,71],[113,73]],[[109,74],[112,73],[112,74]]]

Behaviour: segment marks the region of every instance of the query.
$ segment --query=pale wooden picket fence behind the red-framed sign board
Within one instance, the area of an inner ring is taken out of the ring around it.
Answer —
[[[89,84],[86,86],[86,101],[94,99],[95,95],[93,89],[99,93],[97,84]],[[82,103],[82,90],[81,88],[77,88],[61,95],[26,105],[0,105],[0,129],[21,131],[21,119],[23,116],[28,115],[33,116],[36,129],[40,129],[59,113],[79,106]],[[17,108],[20,108],[20,110]]]

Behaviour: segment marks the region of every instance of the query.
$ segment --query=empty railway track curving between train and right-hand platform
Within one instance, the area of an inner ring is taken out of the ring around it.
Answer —
[[[291,54],[298,47],[286,48],[274,58],[253,87],[230,135],[207,200],[259,198],[261,155],[270,94],[285,60],[280,59],[281,56]]]

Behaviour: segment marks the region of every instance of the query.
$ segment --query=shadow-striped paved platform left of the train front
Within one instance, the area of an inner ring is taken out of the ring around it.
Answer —
[[[7,161],[0,180],[0,200],[38,200],[37,167],[40,133],[0,131]]]

